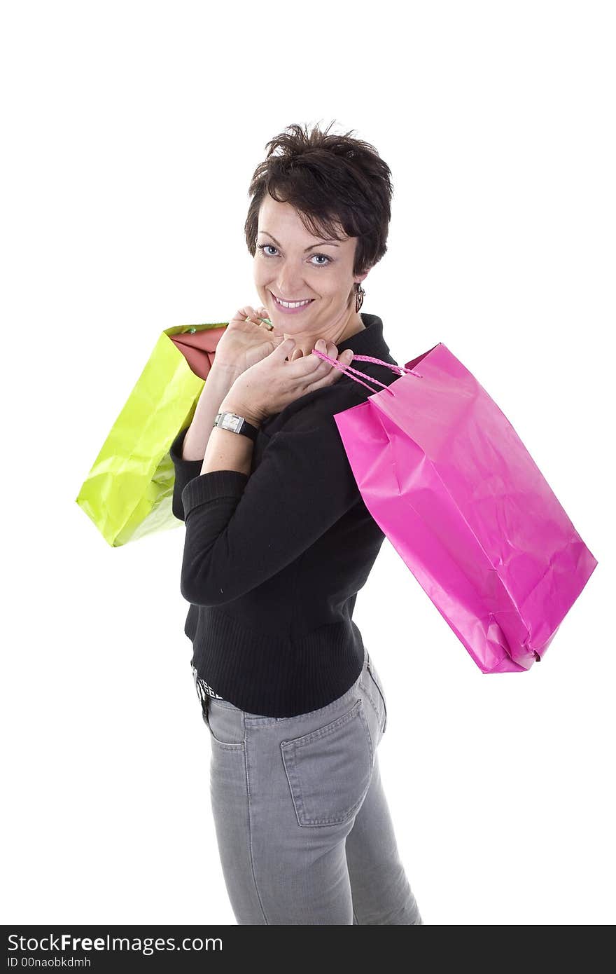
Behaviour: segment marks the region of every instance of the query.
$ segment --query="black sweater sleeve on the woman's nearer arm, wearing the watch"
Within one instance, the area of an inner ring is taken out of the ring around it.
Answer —
[[[212,470],[182,490],[180,588],[194,605],[224,605],[272,578],[360,499],[333,416],[300,419],[272,435],[249,477]]]

